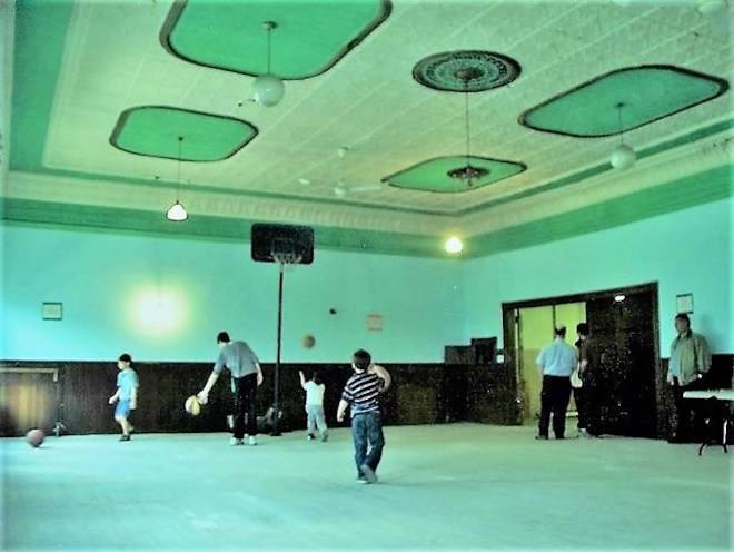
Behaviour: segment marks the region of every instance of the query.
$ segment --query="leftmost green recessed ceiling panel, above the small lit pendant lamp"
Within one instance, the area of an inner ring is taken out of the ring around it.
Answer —
[[[256,135],[252,125],[231,117],[141,106],[120,114],[110,142],[130,154],[148,157],[218,161],[234,156]]]

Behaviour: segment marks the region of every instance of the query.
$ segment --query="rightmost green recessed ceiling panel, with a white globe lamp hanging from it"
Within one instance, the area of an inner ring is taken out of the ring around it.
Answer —
[[[728,82],[674,66],[617,69],[525,111],[519,122],[545,132],[594,138],[648,125],[712,100]]]

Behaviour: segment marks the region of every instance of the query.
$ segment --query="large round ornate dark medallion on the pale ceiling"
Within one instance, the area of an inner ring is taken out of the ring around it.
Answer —
[[[434,53],[413,68],[423,86],[448,92],[482,92],[510,83],[520,73],[517,61],[484,50]]]

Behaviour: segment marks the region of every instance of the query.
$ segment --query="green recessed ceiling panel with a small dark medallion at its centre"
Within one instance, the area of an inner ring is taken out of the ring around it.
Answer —
[[[383,181],[397,188],[458,194],[495,184],[525,169],[522,162],[475,156],[468,159],[466,156],[447,156],[419,162],[383,178]],[[468,176],[472,178],[467,178]]]

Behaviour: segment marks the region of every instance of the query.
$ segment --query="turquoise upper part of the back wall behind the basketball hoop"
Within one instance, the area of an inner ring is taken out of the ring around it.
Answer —
[[[0,358],[207,361],[227,329],[275,358],[277,269],[249,244],[1,226],[6,298]],[[440,362],[458,343],[460,265],[453,260],[317,250],[286,274],[284,359]],[[62,302],[61,322],[41,319]],[[329,309],[337,314],[330,315]],[[381,332],[367,315],[384,316]],[[308,351],[305,334],[316,336]]]

